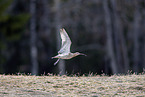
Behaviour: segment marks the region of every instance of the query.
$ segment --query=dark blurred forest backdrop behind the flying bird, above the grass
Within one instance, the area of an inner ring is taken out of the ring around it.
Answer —
[[[65,28],[71,51],[56,66]],[[126,74],[145,68],[145,0],[0,0],[0,73]]]

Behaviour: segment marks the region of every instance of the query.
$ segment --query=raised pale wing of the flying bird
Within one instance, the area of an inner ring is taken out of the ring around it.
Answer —
[[[59,54],[69,53],[70,46],[71,46],[71,40],[64,28],[60,29],[60,36],[61,36],[62,44],[61,44],[61,49],[58,51],[58,53]]]

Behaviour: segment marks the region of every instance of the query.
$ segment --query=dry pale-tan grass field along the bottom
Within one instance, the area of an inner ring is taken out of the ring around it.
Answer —
[[[145,97],[145,74],[126,76],[0,75],[0,97]]]

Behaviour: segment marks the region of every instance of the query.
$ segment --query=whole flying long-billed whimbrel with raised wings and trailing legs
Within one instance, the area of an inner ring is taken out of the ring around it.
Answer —
[[[71,59],[78,55],[85,55],[79,52],[76,53],[70,52],[71,40],[68,34],[66,33],[65,29],[60,29],[60,35],[62,40],[61,49],[58,51],[58,55],[52,57],[52,58],[58,58],[58,60],[54,63],[54,65],[56,65],[60,59]]]

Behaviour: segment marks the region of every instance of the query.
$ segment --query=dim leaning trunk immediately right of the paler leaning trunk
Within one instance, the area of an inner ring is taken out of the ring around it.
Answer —
[[[113,14],[114,14],[114,33],[116,41],[116,56],[117,64],[120,72],[127,72],[129,69],[129,59],[127,54],[126,42],[123,35],[123,27],[120,20],[120,15],[118,13],[118,7],[116,0],[111,0]],[[122,52],[122,55],[121,55]],[[124,66],[123,66],[124,65]],[[123,68],[124,67],[124,68]]]

